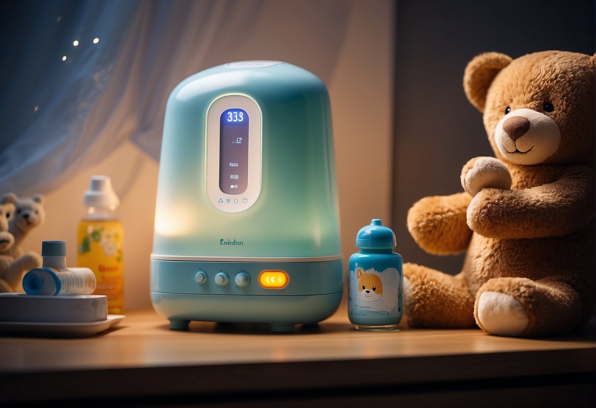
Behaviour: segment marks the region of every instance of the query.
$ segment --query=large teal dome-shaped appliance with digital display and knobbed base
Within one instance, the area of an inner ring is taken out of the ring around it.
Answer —
[[[219,65],[167,101],[151,302],[191,321],[317,324],[342,300],[327,89],[280,61]]]

